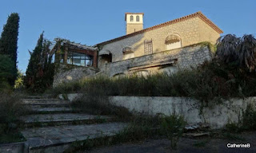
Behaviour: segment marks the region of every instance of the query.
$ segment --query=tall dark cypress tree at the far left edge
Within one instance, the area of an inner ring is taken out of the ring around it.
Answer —
[[[3,31],[0,39],[0,54],[5,54],[10,57],[13,62],[13,78],[10,80],[10,84],[13,86],[17,77],[17,49],[18,49],[18,27],[19,16],[17,13],[10,14],[7,19],[6,25],[3,27]]]

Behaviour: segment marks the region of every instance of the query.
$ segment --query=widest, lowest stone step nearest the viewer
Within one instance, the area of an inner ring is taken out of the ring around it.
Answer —
[[[61,153],[70,147],[71,143],[113,136],[126,126],[125,123],[107,123],[32,128],[23,130],[22,135],[27,139],[30,153]]]

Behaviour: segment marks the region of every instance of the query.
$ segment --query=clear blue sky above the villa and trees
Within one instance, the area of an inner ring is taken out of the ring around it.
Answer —
[[[224,33],[256,36],[255,0],[1,0],[0,27],[12,12],[20,15],[18,69],[26,72],[42,31],[45,37],[95,45],[126,33],[124,14],[143,12],[144,28],[202,11]]]

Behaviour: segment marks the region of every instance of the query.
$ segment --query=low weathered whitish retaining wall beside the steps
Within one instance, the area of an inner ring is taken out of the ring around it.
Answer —
[[[82,94],[68,94],[69,100],[75,100]],[[62,96],[61,96],[62,97]],[[172,96],[110,96],[110,103],[128,108],[130,112],[140,112],[148,115],[158,113],[167,116],[174,112],[184,116],[188,124],[206,123],[210,128],[225,128],[226,124],[238,123],[242,120],[242,114],[250,104],[256,111],[256,97],[244,99],[233,98],[222,103],[211,103],[209,107],[201,109],[198,100],[186,97]]]

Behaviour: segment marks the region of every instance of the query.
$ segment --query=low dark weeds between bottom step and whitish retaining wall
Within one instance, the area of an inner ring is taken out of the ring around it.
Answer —
[[[129,125],[117,135],[103,135],[98,139],[88,137],[82,142],[73,143],[72,147],[65,153],[90,150],[93,147],[110,146],[117,143],[136,142],[149,138],[171,138],[171,143],[177,145],[178,138],[182,135],[183,125],[185,124],[181,116],[133,116]],[[167,128],[168,127],[168,128]],[[174,132],[174,134],[171,134]],[[177,146],[171,146],[176,149]]]

